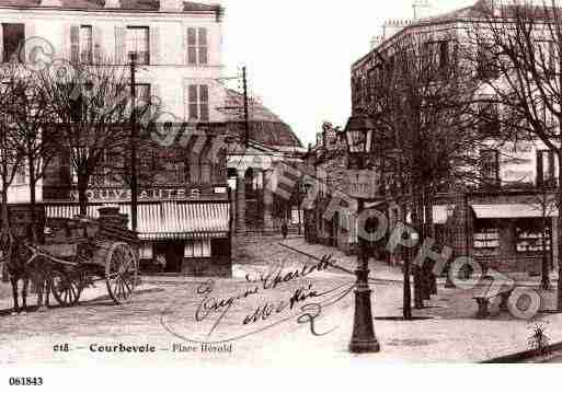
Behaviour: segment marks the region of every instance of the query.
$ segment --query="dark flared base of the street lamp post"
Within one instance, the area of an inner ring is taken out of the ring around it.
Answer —
[[[357,288],[355,290],[355,317],[353,322],[353,336],[349,343],[352,354],[375,354],[380,351],[380,345],[375,337],[372,314],[370,308],[371,290]]]

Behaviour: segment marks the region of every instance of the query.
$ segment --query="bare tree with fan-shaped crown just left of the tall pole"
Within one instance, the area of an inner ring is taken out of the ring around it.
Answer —
[[[85,215],[92,175],[108,154],[128,151],[131,142],[128,69],[111,61],[67,66],[41,72],[37,80],[55,114],[57,145],[69,155],[80,213]]]

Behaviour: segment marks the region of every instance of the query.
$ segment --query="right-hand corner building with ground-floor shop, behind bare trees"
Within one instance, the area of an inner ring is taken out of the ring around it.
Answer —
[[[369,93],[370,78],[376,78],[381,69],[380,59],[391,58],[393,47],[402,39],[413,35],[427,37],[427,45],[439,45],[435,56],[438,67],[454,65],[461,53],[457,45],[466,43],[467,27],[479,23],[482,10],[493,5],[482,0],[445,15],[414,21],[380,41],[353,65],[354,111],[377,105]],[[486,49],[477,50],[485,54]],[[485,58],[479,56],[474,78],[490,78],[484,74]],[[482,89],[482,95],[490,93]],[[486,127],[500,127],[500,112],[494,112],[496,120],[488,122]],[[490,113],[485,117],[489,119]],[[478,184],[444,189],[436,197],[434,223],[439,242],[452,245],[456,255],[474,257],[484,267],[538,275],[543,257],[550,262],[558,258],[558,247],[553,246],[559,241],[554,194],[560,185],[554,154],[536,139],[506,143],[490,138],[482,140],[482,145],[485,148],[474,152],[481,166],[477,169]]]

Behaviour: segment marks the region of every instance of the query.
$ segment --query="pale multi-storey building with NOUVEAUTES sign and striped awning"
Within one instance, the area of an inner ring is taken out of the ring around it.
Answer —
[[[138,97],[156,97],[161,112],[171,116],[167,122],[188,119],[205,132],[203,149],[194,149],[194,141],[162,146],[144,136],[138,232],[145,270],[231,275],[226,150],[216,160],[209,158],[216,138],[227,134],[220,111],[226,90],[219,84],[222,16],[219,5],[177,0],[0,1],[2,62],[15,58],[31,63],[38,47],[50,67],[65,61],[126,66],[135,54]],[[119,207],[130,227],[130,187],[104,176],[103,169],[118,157],[107,152],[91,176],[88,213],[98,217],[100,207]],[[53,160],[36,194],[47,224],[78,215],[77,178],[68,152]],[[28,195],[22,171],[9,192],[13,210],[21,210]]]

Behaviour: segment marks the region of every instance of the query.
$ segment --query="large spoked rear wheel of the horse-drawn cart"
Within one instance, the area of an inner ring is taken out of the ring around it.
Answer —
[[[113,243],[105,259],[107,292],[117,304],[126,303],[137,285],[138,263],[127,243]]]

